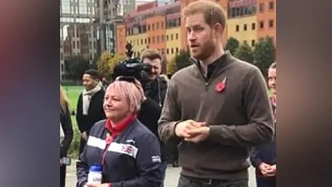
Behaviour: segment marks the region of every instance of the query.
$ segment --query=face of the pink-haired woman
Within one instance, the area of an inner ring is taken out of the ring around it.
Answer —
[[[121,121],[130,115],[127,98],[113,88],[106,90],[103,107],[107,118],[113,122]]]

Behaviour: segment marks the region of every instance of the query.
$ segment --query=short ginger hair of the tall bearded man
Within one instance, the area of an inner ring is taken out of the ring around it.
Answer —
[[[188,17],[198,13],[203,13],[206,24],[210,26],[213,26],[214,24],[221,24],[223,29],[225,29],[226,13],[218,3],[208,0],[199,0],[190,3],[182,10],[183,17]]]

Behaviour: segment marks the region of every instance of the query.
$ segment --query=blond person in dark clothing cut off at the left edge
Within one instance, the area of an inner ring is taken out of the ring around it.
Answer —
[[[73,140],[73,125],[71,123],[70,102],[66,93],[60,85],[60,125],[64,138],[60,141],[60,159],[67,156],[67,151]],[[60,165],[60,187],[65,187],[66,182],[66,166]]]

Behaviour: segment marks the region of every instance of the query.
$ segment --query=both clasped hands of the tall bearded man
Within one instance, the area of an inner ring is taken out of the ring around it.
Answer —
[[[175,134],[178,137],[184,138],[185,141],[198,143],[208,138],[210,127],[205,122],[187,120],[176,125]]]

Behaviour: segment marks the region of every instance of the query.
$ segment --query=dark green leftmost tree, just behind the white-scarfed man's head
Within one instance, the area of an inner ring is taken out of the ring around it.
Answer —
[[[66,66],[66,77],[70,80],[81,80],[84,71],[90,69],[89,60],[80,56],[71,57],[64,63]]]

